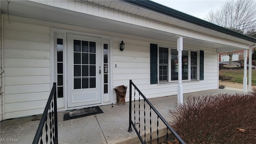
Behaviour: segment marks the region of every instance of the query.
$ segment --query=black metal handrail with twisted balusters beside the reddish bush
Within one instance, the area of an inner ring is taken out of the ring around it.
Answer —
[[[134,122],[132,121],[132,86],[134,86]],[[139,93],[139,122],[137,124],[139,124],[139,131],[140,131],[140,96],[142,96],[142,98],[144,99],[144,141],[142,140],[142,137],[140,136],[140,132],[138,132],[136,126],[135,126],[135,91],[138,91]],[[166,122],[166,120],[161,116],[161,114],[156,110],[156,108],[154,108],[154,106],[148,101],[148,99],[144,96],[144,94],[142,94],[142,92],[137,88],[137,86],[132,82],[132,80],[130,80],[130,102],[129,102],[129,129],[128,132],[132,132],[132,127],[134,128],[136,134],[138,135],[140,142],[142,144],[146,144],[146,119],[145,119],[145,102],[148,103],[148,105],[150,106],[150,143],[152,142],[152,128],[151,128],[151,109],[154,110],[154,112],[157,115],[157,143],[159,144],[159,137],[158,137],[158,118],[160,118],[160,120],[162,120],[162,122],[165,124],[166,128],[167,128],[167,133],[166,133],[166,140],[168,140],[168,130],[170,130],[172,132],[172,134],[174,134],[174,136],[178,139],[179,144],[185,144],[185,142],[182,140],[182,138],[180,138],[180,136],[174,131],[174,129],[168,124],[168,122]]]

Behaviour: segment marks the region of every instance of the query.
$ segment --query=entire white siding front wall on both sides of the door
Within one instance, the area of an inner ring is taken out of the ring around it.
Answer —
[[[6,15],[4,15],[6,16]],[[5,17],[7,18],[7,17]],[[30,116],[43,112],[50,94],[50,28],[74,30],[91,34],[112,36],[113,88],[129,86],[129,80],[140,88],[147,98],[177,94],[177,83],[150,84],[150,43],[176,46],[166,42],[126,34],[68,26],[42,20],[11,16],[12,23],[4,19],[4,102],[5,119]],[[119,43],[125,48],[119,52]],[[212,49],[184,46],[204,50],[204,80],[183,82],[184,93],[218,88],[218,54]],[[110,69],[111,70],[111,69]],[[116,94],[110,88],[113,103]],[[128,101],[129,88],[126,93]]]

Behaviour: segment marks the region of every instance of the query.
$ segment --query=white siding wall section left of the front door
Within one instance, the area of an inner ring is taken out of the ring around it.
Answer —
[[[41,114],[50,94],[50,28],[4,21],[5,119]]]

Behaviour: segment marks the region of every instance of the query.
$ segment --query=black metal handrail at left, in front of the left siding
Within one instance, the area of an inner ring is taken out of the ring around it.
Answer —
[[[50,119],[50,138],[48,138],[48,124],[47,124],[47,114],[49,112],[49,119]],[[43,128],[45,127],[45,142],[46,144],[50,141],[50,144],[58,144],[58,119],[57,119],[57,96],[56,96],[56,82],[53,83],[52,90],[46,106],[44,108],[44,113],[40,120],[40,124],[36,131],[36,135],[34,137],[32,144],[38,144],[40,140],[40,144],[43,144]]]

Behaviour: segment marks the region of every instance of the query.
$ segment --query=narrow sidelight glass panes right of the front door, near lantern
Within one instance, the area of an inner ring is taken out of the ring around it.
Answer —
[[[108,44],[103,45],[104,57],[104,94],[108,93]]]

